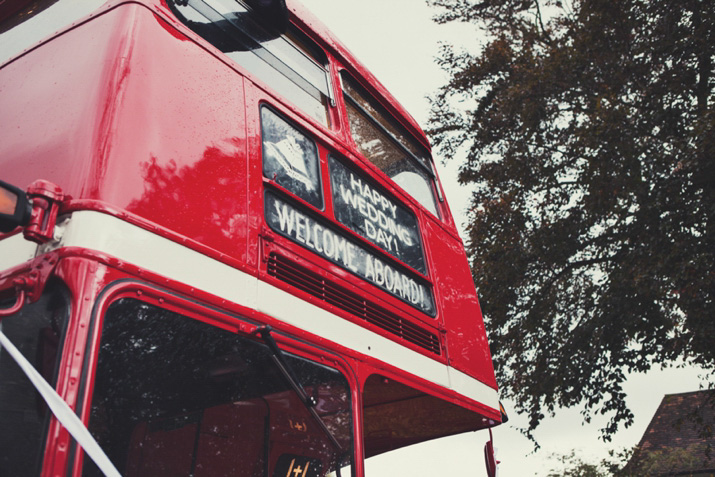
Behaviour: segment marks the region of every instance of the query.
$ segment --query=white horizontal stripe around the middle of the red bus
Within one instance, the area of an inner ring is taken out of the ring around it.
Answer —
[[[499,409],[495,389],[323,308],[274,287],[200,252],[114,216],[74,212],[58,224],[61,240],[52,248],[81,247],[102,252],[171,280],[254,308],[346,348]],[[5,240],[0,241],[0,256]],[[43,246],[42,249],[47,248]],[[46,251],[46,250],[44,250]]]

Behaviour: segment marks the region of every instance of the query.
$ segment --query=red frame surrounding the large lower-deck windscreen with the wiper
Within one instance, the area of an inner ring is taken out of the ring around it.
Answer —
[[[250,308],[240,305],[237,310],[226,310],[213,306],[207,302],[190,297],[186,293],[181,293],[146,282],[138,281],[136,278],[128,277],[117,279],[108,283],[98,294],[92,308],[90,318],[90,329],[87,335],[87,343],[84,347],[84,365],[80,378],[77,413],[82,422],[90,428],[90,415],[92,411],[92,398],[96,384],[97,365],[99,362],[99,352],[102,344],[102,328],[104,319],[109,308],[121,299],[132,299],[150,306],[160,308],[165,311],[182,315],[186,319],[194,320],[208,326],[213,326],[221,330],[234,333],[237,337],[255,341],[260,345],[265,342],[258,336],[257,329],[263,326],[266,317],[255,317],[259,314]],[[256,321],[258,318],[260,321]],[[357,378],[357,372],[349,361],[335,352],[320,346],[316,343],[301,339],[295,334],[273,329],[273,337],[279,348],[284,353],[293,355],[314,363],[317,366],[330,368],[340,374],[348,386],[348,397],[350,406],[348,408],[351,416],[350,426],[350,460],[354,477],[355,469],[359,467],[358,460],[361,459],[358,451],[362,445],[359,442],[361,437],[361,388]],[[88,456],[80,448],[75,451],[75,444],[72,444],[72,454],[70,455],[71,475],[83,475],[83,467]],[[348,477],[348,476],[344,476]]]

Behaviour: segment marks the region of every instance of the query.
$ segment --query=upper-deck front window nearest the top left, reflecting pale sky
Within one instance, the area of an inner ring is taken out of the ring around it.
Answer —
[[[274,91],[328,126],[332,89],[325,53],[300,32],[273,32],[236,0],[171,1],[177,17]]]

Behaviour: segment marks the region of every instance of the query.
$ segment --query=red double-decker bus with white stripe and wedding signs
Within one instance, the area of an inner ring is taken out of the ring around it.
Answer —
[[[5,1],[0,179],[0,475],[362,476],[505,419],[429,142],[297,3]]]

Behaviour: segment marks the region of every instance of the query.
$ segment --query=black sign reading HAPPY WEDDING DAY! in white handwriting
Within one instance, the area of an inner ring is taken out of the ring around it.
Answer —
[[[335,218],[415,270],[427,274],[415,215],[330,156]]]

